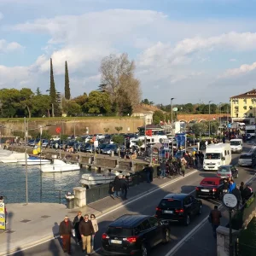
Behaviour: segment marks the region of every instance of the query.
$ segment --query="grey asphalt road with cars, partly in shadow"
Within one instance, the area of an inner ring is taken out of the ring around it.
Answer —
[[[251,147],[250,144],[245,144],[244,146],[245,147],[243,151],[248,151],[249,148]],[[239,154],[232,154],[232,163],[236,164],[238,161],[238,158],[239,158]],[[239,177],[236,179],[236,183],[239,184],[241,183],[241,181],[244,181],[244,182],[247,181],[250,177],[253,177],[254,173],[255,172],[251,168],[239,167]],[[100,231],[96,234],[95,249],[98,249],[101,247],[102,233],[104,233],[104,231],[108,227],[108,224],[110,224],[115,218],[119,218],[119,216],[125,213],[133,213],[133,214],[140,213],[140,214],[154,215],[155,207],[157,207],[162,197],[164,197],[166,194],[170,192],[192,193],[193,195],[195,186],[201,182],[201,179],[203,177],[216,177],[216,172],[203,172],[203,171],[196,172],[195,174],[192,174],[189,177],[184,177],[183,179],[177,181],[176,183],[172,183],[171,185],[167,186],[164,189],[160,189],[156,191],[154,194],[148,195],[147,197],[143,197],[143,199],[141,200],[134,201],[131,204],[125,207],[122,207],[117,211],[111,212],[105,215],[104,217],[100,218],[98,220]],[[201,215],[191,219],[191,223],[189,224],[188,227],[185,227],[180,224],[172,224],[171,226],[172,241],[167,245],[159,245],[155,247],[152,250],[152,253],[151,253],[152,256],[166,255],[166,253],[168,253],[172,249],[172,247],[174,247],[177,244],[178,241],[183,239],[183,237],[186,236],[190,232],[190,230],[193,230],[197,224],[200,224],[201,221],[207,217],[207,215],[209,214],[210,210],[214,205],[220,204],[219,201],[214,201],[214,200],[202,200],[202,201],[203,201],[203,207],[202,207]],[[38,227],[38,230],[40,230],[40,227]],[[73,247],[73,255],[84,256],[84,253],[81,252],[81,248],[75,245],[74,241],[73,241],[72,247]],[[12,255],[15,255],[15,256],[28,256],[28,255],[62,256],[63,255],[64,256],[67,254],[62,252],[60,241],[58,239],[55,239]],[[96,253],[92,253],[91,255],[95,255],[95,256],[101,255],[100,250],[96,250]]]

